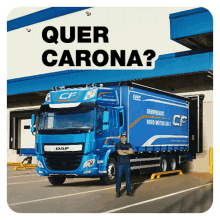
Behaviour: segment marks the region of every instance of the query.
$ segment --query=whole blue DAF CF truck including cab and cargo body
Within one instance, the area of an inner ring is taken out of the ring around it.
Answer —
[[[189,152],[189,100],[132,82],[53,88],[31,123],[37,174],[54,185],[75,177],[115,183],[123,133],[136,174],[175,170]]]

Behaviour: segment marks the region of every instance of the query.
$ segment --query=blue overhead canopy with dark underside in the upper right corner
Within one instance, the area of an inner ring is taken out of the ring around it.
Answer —
[[[213,18],[205,8],[170,14],[171,39],[190,48],[213,47]]]

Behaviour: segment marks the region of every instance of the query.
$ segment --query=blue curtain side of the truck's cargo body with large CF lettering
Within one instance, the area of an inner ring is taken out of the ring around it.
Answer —
[[[128,97],[129,142],[144,151],[188,150],[188,101],[132,87]]]

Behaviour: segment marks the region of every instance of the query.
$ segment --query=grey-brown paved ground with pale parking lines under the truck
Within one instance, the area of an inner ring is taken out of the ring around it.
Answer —
[[[13,171],[8,167],[8,204],[19,213],[201,213],[213,200],[212,175],[185,173],[150,180],[142,172],[132,176],[134,197],[115,197],[115,185],[102,185],[99,178],[67,179],[53,186],[35,169]]]

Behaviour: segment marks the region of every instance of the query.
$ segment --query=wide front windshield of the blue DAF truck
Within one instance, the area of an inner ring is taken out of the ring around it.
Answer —
[[[80,112],[42,112],[40,131],[89,132],[94,128],[94,110]],[[71,132],[72,133],[72,132]]]

